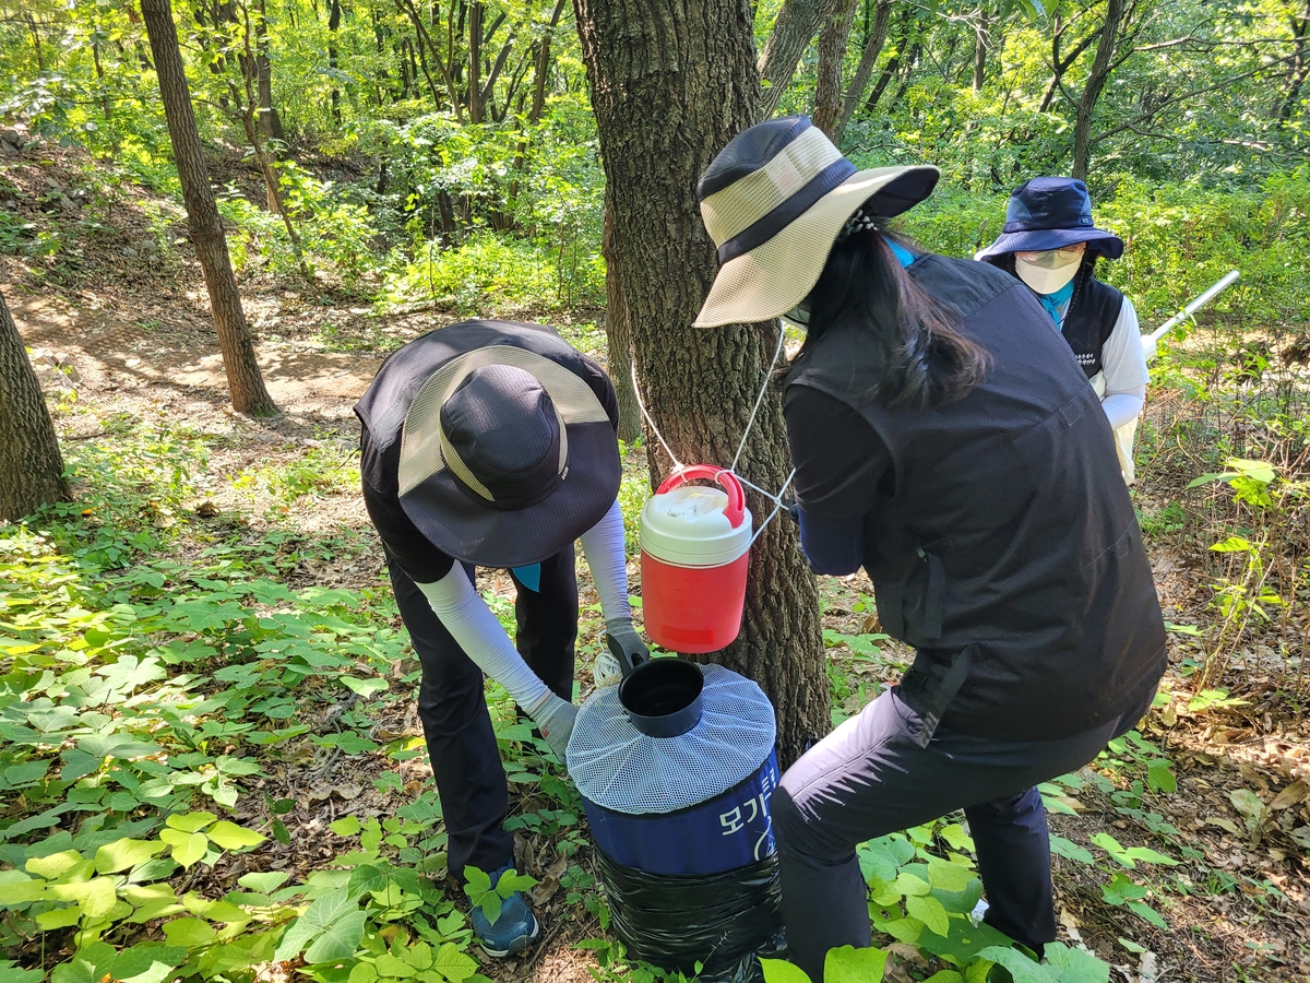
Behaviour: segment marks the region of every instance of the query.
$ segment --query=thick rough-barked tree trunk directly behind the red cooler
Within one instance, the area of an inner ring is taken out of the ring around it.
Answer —
[[[730,138],[756,119],[747,0],[574,0],[592,107],[613,193],[646,406],[685,463],[730,464],[777,342],[777,325],[690,328],[714,278],[694,189]],[[671,121],[676,121],[671,125]],[[663,471],[650,447],[652,469]],[[777,398],[765,401],[738,471],[778,489],[791,471]],[[756,522],[772,506],[752,495]],[[819,603],[795,527],[772,522],[751,550],[740,637],[713,658],[757,680],[790,763],[829,727]]]

